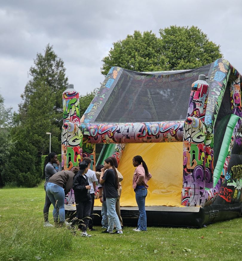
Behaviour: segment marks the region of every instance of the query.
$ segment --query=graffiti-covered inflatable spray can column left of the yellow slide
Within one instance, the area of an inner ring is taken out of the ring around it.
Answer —
[[[78,166],[82,157],[82,132],[80,131],[79,93],[73,84],[62,94],[63,126],[62,126],[62,170],[71,170]]]

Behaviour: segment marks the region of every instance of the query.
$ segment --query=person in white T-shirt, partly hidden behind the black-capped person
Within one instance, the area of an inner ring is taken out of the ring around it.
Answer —
[[[91,158],[85,157],[82,160],[86,161],[88,163],[88,172],[86,173],[86,176],[88,177],[88,183],[91,186],[90,195],[91,195],[91,199],[92,199],[92,207],[91,207],[91,213],[90,213],[91,219],[89,219],[88,228],[89,228],[90,231],[95,231],[96,229],[93,228],[93,218],[94,218],[93,207],[94,207],[94,199],[95,199],[95,190],[96,190],[97,178],[96,178],[95,171],[90,170]]]

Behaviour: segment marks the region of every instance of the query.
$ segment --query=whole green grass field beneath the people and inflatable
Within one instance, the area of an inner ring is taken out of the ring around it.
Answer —
[[[43,228],[45,191],[36,188],[0,189],[0,260],[241,260],[242,219],[200,229],[148,227],[123,235],[76,236],[66,228]],[[50,207],[49,218],[52,218]]]

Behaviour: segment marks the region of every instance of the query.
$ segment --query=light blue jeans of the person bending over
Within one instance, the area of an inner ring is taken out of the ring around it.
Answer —
[[[65,222],[65,192],[64,189],[54,183],[48,182],[46,193],[54,207],[53,218],[54,222]],[[58,213],[59,212],[59,213]],[[59,220],[58,220],[59,217]]]

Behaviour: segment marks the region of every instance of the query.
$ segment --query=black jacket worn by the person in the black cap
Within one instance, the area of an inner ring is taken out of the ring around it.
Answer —
[[[87,193],[88,190],[86,189],[86,186],[88,185],[88,177],[85,174],[83,176],[80,171],[76,173],[73,178],[72,187],[74,190],[75,201],[83,202],[91,198],[90,193]]]

